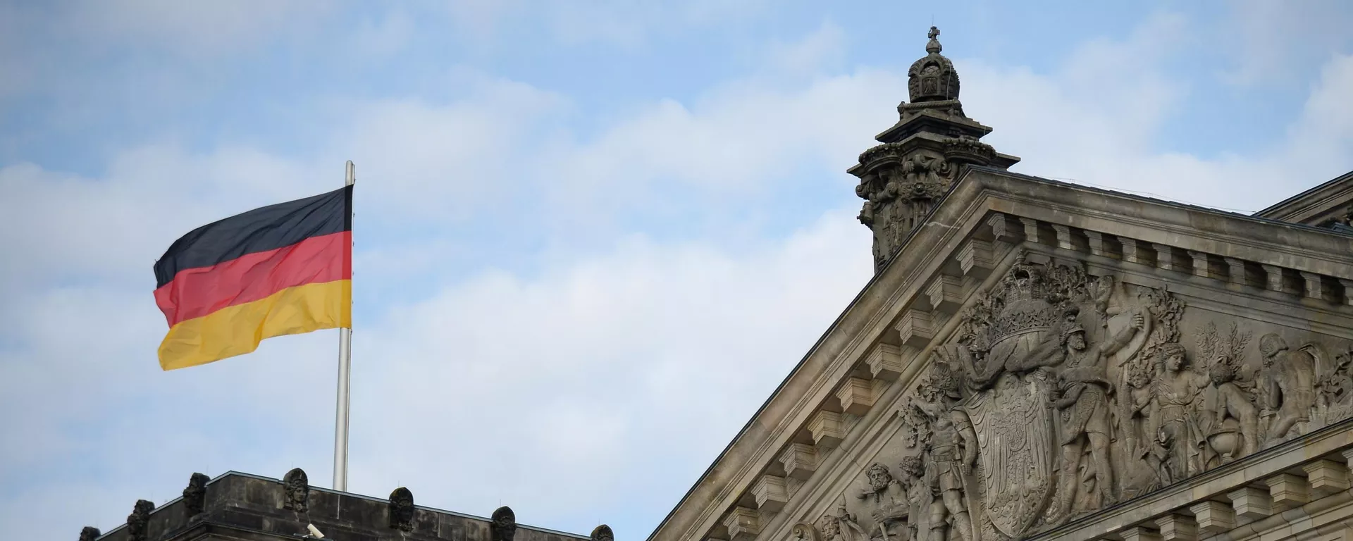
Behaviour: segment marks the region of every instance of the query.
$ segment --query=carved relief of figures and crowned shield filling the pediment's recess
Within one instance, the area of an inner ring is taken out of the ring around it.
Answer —
[[[958,315],[816,538],[1020,540],[1353,417],[1342,339],[1031,258]]]

